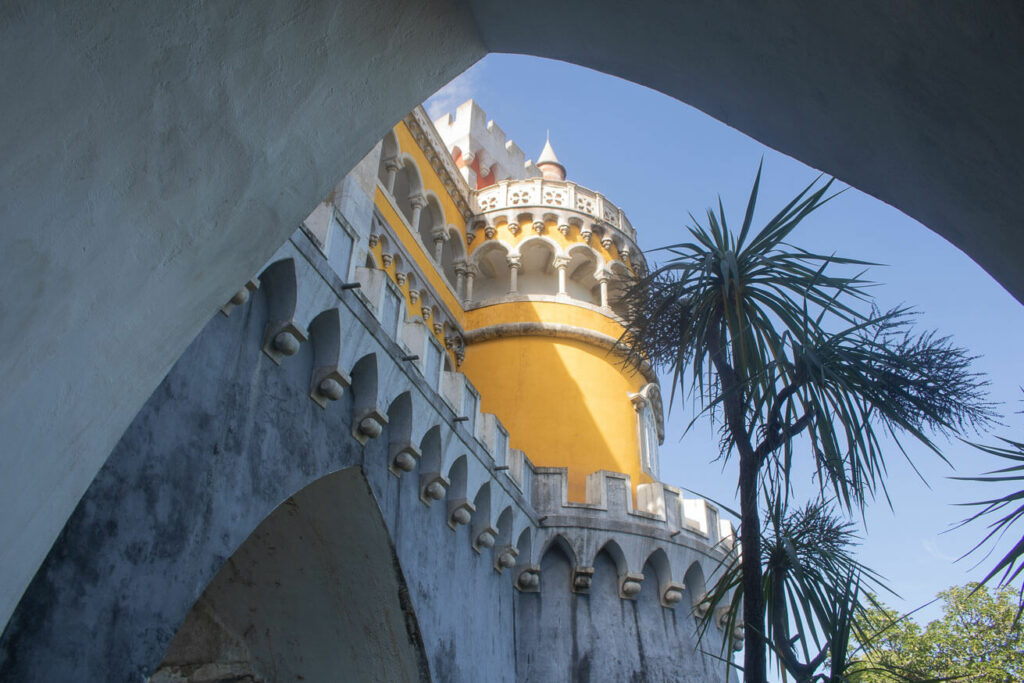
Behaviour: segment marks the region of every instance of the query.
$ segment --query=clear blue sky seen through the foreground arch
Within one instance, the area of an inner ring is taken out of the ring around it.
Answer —
[[[762,220],[818,174],[671,97],[559,61],[489,55],[435,94],[426,108],[436,118],[454,114],[470,97],[527,159],[537,158],[550,130],[568,179],[622,207],[644,250],[680,241],[687,214],[700,215],[719,195],[727,215],[740,221],[762,157]],[[1024,408],[1019,389],[1024,384],[1024,354],[1019,351],[1024,307],[970,258],[898,210],[852,188],[814,214],[791,241],[810,251],[886,264],[867,275],[882,283],[876,291],[880,304],[914,306],[922,311],[923,328],[950,335],[981,356],[976,369],[988,376],[991,397],[1005,415],[1005,426],[995,434],[1024,438],[1024,416],[1015,413]],[[691,417],[689,407],[677,398],[662,449],[662,477],[733,505],[734,463],[723,468],[713,462],[717,439],[706,423],[683,436]],[[972,438],[995,441],[994,434]],[[893,449],[888,455],[893,509],[882,500],[866,515],[859,556],[901,596],[884,599],[904,610],[949,586],[980,579],[992,561],[982,567],[975,567],[971,558],[953,562],[972,547],[981,526],[944,531],[966,514],[954,503],[996,492],[948,477],[978,474],[998,464],[961,442],[940,443],[955,472],[911,443],[908,454],[926,485]],[[933,605],[922,610],[920,618],[938,614]]]

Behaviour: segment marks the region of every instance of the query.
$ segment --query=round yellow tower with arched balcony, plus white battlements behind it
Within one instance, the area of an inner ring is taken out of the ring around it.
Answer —
[[[471,198],[460,370],[512,447],[568,469],[570,501],[586,500],[587,475],[598,470],[629,474],[634,488],[656,480],[657,380],[614,352],[618,294],[643,258],[636,232],[608,199],[565,179],[550,139],[536,166],[519,162],[518,147],[484,120],[469,101],[435,123],[457,165],[475,161],[475,176],[462,166],[467,180],[480,179],[481,159],[497,171]]]

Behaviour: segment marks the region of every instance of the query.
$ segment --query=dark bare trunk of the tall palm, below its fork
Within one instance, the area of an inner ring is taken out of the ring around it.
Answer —
[[[758,463],[739,456],[739,542],[743,553],[743,681],[766,683],[765,596],[761,583],[761,517],[758,513]],[[726,634],[728,637],[728,634]]]

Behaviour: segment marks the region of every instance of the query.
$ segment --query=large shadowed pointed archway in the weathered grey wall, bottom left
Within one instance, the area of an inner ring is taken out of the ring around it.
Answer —
[[[331,680],[344,671],[414,680],[428,665],[397,562],[359,471],[329,474],[273,510],[223,564],[154,680],[201,666],[240,679]],[[397,637],[368,648],[368,633]]]

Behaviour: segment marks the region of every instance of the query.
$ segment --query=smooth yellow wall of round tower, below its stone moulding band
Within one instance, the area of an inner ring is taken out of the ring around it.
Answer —
[[[569,500],[587,499],[587,475],[640,468],[637,416],[630,394],[646,380],[603,348],[553,337],[507,337],[470,345],[462,372],[481,408],[509,430],[512,447],[540,467],[567,467]]]

